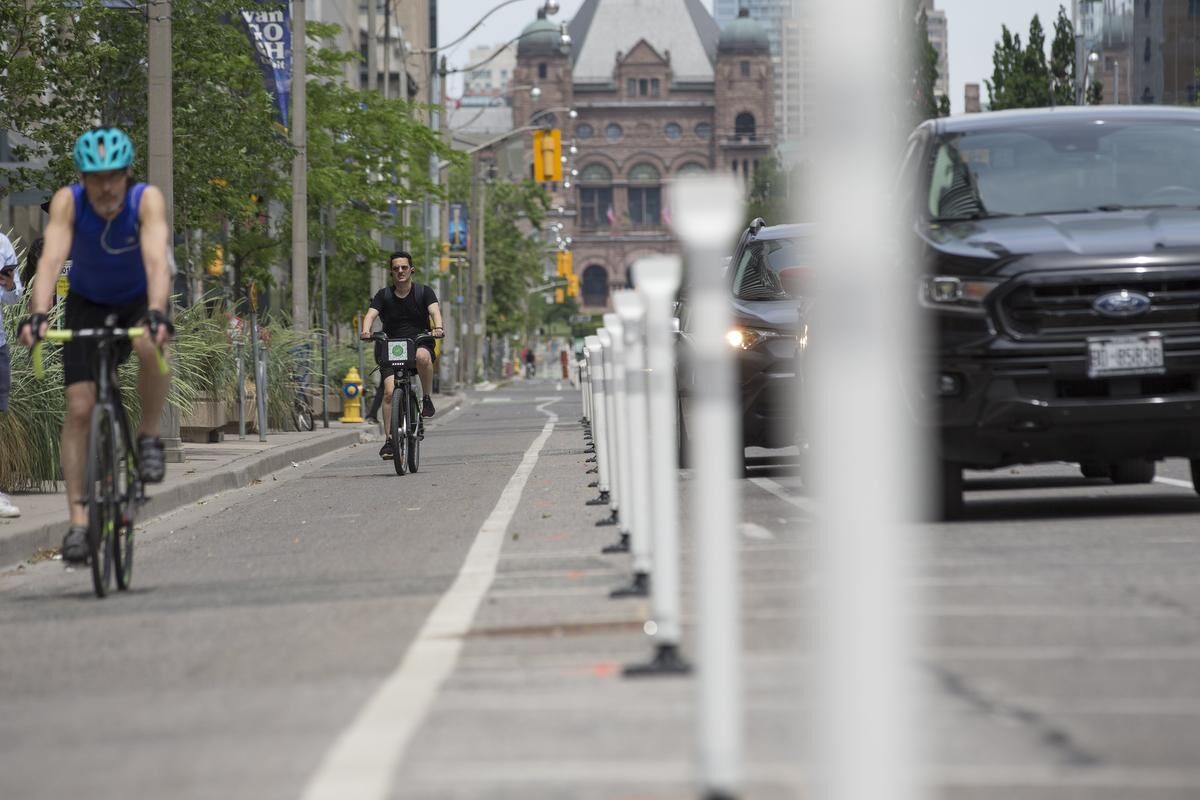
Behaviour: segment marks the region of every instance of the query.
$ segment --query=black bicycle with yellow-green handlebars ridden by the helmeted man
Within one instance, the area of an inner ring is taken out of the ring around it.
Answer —
[[[115,327],[116,317],[104,320],[104,327],[77,331],[47,331],[46,341],[70,342],[95,339],[96,405],[88,428],[88,561],[96,596],[103,597],[116,573],[116,588],[126,590],[133,579],[133,525],[138,509],[145,503],[138,449],[133,441],[128,415],[121,402],[116,377],[115,345],[146,335],[145,327]],[[34,345],[34,374],[44,375],[42,342]],[[158,368],[167,374],[166,359],[158,354]]]

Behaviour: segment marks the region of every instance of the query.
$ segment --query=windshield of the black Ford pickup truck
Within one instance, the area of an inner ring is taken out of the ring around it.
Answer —
[[[929,216],[1200,206],[1200,122],[1068,118],[942,138]]]

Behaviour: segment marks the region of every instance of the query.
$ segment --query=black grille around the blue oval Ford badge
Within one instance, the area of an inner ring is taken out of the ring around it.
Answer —
[[[1150,311],[1114,318],[1092,308],[1097,297],[1122,289],[1150,297]],[[1200,278],[1026,283],[1002,297],[1000,313],[1004,327],[1018,337],[1195,329],[1200,324]]]

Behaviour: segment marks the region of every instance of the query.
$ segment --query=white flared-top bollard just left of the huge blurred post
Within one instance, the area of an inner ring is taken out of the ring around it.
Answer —
[[[696,673],[700,708],[696,728],[700,783],[706,798],[736,798],[743,771],[742,620],[739,614],[736,469],[738,408],[733,351],[725,333],[733,321],[721,281],[721,257],[734,243],[743,190],[728,173],[685,178],[670,190],[673,227],[688,253],[692,296],[697,386],[692,455],[696,528]]]

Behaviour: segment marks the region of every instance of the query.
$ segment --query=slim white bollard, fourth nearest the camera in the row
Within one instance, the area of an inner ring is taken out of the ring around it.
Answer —
[[[614,589],[612,597],[644,597],[650,593],[650,569],[654,564],[650,539],[650,464],[646,445],[650,433],[646,423],[646,347],[643,331],[646,307],[636,291],[612,294],[612,305],[620,317],[624,337],[625,420],[629,426],[629,486],[625,509],[630,529],[630,552],[634,555],[634,582]]]

